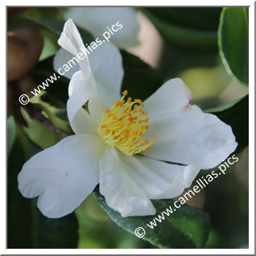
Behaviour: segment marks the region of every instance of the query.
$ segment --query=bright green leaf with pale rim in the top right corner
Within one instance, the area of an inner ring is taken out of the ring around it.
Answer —
[[[227,72],[244,85],[249,82],[248,40],[248,8],[224,8],[218,29],[221,60]]]

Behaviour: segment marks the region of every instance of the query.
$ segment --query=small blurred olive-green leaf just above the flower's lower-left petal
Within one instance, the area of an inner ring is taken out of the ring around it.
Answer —
[[[39,147],[45,149],[47,147],[52,147],[57,142],[60,141],[60,136],[52,132],[46,126],[43,126],[41,122],[31,118],[25,109],[21,109],[23,118],[27,122],[27,127],[24,127],[24,130],[27,134],[27,137],[31,139],[32,142],[35,142]]]

